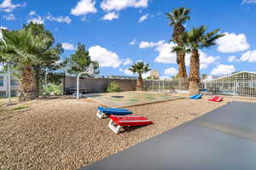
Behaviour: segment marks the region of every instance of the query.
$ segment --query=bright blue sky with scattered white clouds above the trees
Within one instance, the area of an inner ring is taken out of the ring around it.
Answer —
[[[66,48],[63,56],[83,42],[100,62],[101,75],[130,76],[131,63],[143,60],[170,77],[177,65],[166,13],[180,6],[192,9],[187,30],[205,25],[226,35],[217,46],[201,49],[201,74],[256,71],[256,0],[0,0],[0,26],[44,23]]]

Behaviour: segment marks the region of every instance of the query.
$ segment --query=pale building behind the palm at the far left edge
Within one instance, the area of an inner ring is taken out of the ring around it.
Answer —
[[[8,75],[0,73],[0,98],[8,97]],[[20,81],[15,77],[10,80],[11,96],[17,96],[20,90]]]

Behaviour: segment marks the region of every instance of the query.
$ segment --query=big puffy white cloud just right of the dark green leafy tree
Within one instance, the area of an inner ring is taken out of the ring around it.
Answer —
[[[89,54],[91,59],[98,61],[101,67],[117,68],[122,63],[118,54],[108,51],[108,49],[99,45],[89,48]]]

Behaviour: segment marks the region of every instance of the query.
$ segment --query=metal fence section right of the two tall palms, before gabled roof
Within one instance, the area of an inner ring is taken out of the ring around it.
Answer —
[[[256,98],[256,76],[243,74],[201,82],[201,93]]]

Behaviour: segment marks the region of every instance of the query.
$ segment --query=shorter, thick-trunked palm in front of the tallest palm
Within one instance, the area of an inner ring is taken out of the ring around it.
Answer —
[[[207,27],[200,26],[198,28],[193,28],[189,32],[183,33],[180,40],[183,41],[183,48],[180,50],[185,50],[190,52],[190,68],[189,68],[189,90],[191,94],[197,94],[199,92],[199,82],[200,82],[200,54],[199,49],[209,48],[215,45],[215,41],[219,37],[223,37],[224,34],[218,34],[219,29],[210,31],[206,33]]]

